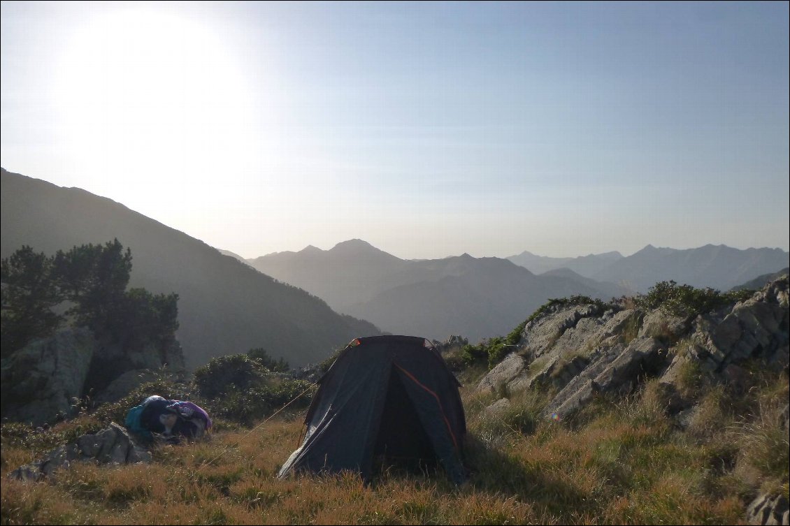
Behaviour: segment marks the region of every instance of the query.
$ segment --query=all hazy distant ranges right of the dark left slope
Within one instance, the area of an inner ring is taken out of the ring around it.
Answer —
[[[611,299],[646,292],[663,280],[726,291],[766,269],[781,269],[787,261],[782,250],[727,246],[647,246],[629,257],[609,252],[554,258],[524,252],[507,259],[463,254],[403,260],[360,239],[330,250],[307,246],[247,260],[261,272],[325,299],[334,310],[382,330],[436,339],[461,334],[472,341],[509,332],[550,298]]]

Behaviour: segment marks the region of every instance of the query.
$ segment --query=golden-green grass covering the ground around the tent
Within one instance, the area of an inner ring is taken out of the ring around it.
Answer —
[[[559,423],[540,419],[547,396],[534,392],[488,415],[495,396],[469,383],[471,475],[460,488],[442,472],[389,470],[370,484],[352,473],[278,480],[299,418],[161,446],[148,465],[79,464],[21,483],[8,473],[47,440],[24,442],[4,426],[0,515],[2,524],[738,524],[760,488],[788,488],[778,419],[788,380],[755,371],[747,393],[708,389],[693,433],[675,426],[655,381],[625,399],[600,396]]]

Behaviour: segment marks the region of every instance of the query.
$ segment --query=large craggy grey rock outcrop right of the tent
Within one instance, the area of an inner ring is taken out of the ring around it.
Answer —
[[[746,385],[744,360],[788,366],[788,296],[783,276],[745,301],[695,318],[660,309],[555,305],[525,325],[517,351],[477,389],[500,396],[501,389],[552,389],[544,416],[562,419],[597,393],[630,393],[651,377],[659,378],[669,410],[683,411],[695,401],[681,385],[690,366],[736,391]]]

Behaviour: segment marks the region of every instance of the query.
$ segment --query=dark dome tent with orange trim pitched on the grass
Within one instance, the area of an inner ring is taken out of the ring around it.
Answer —
[[[460,384],[427,340],[371,336],[348,344],[318,381],[304,441],[283,467],[290,472],[360,472],[374,461],[438,461],[456,483],[466,435]]]

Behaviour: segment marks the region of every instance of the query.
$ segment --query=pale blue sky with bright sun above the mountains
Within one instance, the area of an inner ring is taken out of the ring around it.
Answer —
[[[243,257],[788,250],[788,10],[2,2],[2,167]]]

